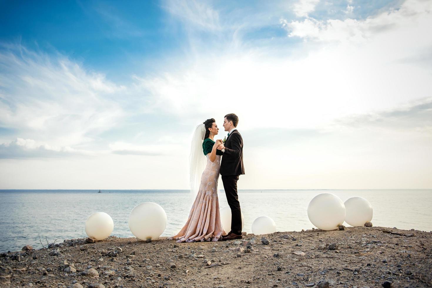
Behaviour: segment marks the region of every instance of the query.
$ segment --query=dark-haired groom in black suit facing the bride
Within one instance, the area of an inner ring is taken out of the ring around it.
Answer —
[[[243,139],[237,128],[238,117],[235,114],[225,115],[223,127],[229,131],[225,144],[218,146],[217,149],[223,152],[220,165],[223,187],[226,199],[231,208],[231,231],[222,235],[220,240],[241,239],[241,210],[237,195],[238,176],[245,174],[243,167]]]

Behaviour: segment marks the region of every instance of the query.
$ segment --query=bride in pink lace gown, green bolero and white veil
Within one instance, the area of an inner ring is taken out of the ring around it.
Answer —
[[[207,119],[195,130],[190,155],[190,172],[191,192],[197,193],[197,196],[186,224],[177,235],[169,237],[168,240],[177,240],[177,242],[218,241],[222,234],[226,234],[220,221],[217,196],[222,155],[217,147],[222,144],[222,140],[215,142],[213,137],[218,134],[218,131],[219,128],[213,118]],[[203,171],[202,174],[201,171]],[[200,182],[198,182],[199,179]],[[196,189],[197,187],[199,188]]]

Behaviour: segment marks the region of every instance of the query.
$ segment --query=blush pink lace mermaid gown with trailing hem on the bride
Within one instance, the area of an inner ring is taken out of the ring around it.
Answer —
[[[214,162],[210,161],[209,154],[206,157],[207,165],[201,176],[200,188],[187,222],[177,235],[169,237],[168,240],[177,240],[179,243],[218,241],[222,234],[226,233],[220,221],[217,196],[221,156],[216,155]]]

